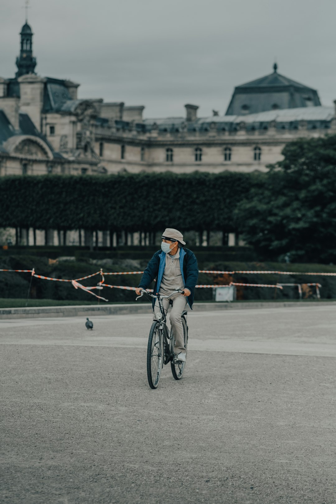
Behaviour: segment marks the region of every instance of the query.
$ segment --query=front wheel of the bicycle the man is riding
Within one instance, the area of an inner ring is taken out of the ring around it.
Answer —
[[[151,389],[159,385],[163,363],[163,338],[159,323],[154,321],[148,337],[147,378]]]

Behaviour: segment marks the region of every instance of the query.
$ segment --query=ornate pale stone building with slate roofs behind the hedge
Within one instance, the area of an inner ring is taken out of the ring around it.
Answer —
[[[144,106],[79,99],[79,84],[35,73],[33,33],[20,33],[18,71],[0,78],[0,176],[169,170],[266,170],[285,144],[336,133],[332,106],[278,73],[237,86],[225,115],[144,118]],[[52,239],[51,239],[52,241]]]

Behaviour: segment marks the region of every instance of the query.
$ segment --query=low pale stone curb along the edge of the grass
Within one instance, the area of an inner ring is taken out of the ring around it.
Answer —
[[[297,308],[312,306],[334,306],[336,301],[311,302],[262,302],[250,303],[194,303],[193,311],[224,311],[255,308]],[[92,317],[95,315],[131,315],[148,313],[150,303],[141,304],[109,304],[109,305],[77,305],[77,306],[42,306],[30,308],[0,308],[1,319],[43,319],[56,317]]]

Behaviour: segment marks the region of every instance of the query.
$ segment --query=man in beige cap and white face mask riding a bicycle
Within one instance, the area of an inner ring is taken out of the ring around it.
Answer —
[[[156,279],[155,294],[158,292],[162,296],[167,296],[176,288],[184,290],[184,294],[175,292],[169,298],[173,303],[169,321],[175,337],[174,353],[177,355],[177,360],[185,362],[186,352],[181,315],[187,303],[192,309],[198,266],[193,252],[182,245],[185,245],[182,233],[177,229],[165,229],[162,235],[161,250],[158,250],[148,263],[136,293],[139,296],[141,289],[147,289],[154,279]],[[163,306],[167,311],[169,299],[163,299]],[[154,309],[155,300],[153,299]]]

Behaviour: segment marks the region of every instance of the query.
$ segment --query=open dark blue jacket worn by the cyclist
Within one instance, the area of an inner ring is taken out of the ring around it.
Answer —
[[[198,279],[198,266],[194,253],[188,248],[180,248],[180,268],[184,287],[190,291],[190,296],[187,297],[188,304],[192,309],[195,285]],[[139,287],[147,289],[155,280],[154,294],[159,292],[163,277],[163,272],[166,266],[166,254],[161,249],[158,250],[141,277]],[[155,299],[153,299],[153,308]]]

